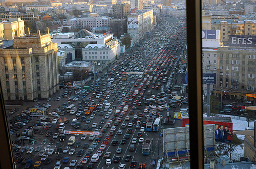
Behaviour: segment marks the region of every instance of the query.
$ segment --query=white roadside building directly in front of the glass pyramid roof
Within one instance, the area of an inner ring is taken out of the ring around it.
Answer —
[[[120,51],[120,43],[115,39],[106,44],[89,44],[82,49],[82,60],[97,64],[114,62]]]

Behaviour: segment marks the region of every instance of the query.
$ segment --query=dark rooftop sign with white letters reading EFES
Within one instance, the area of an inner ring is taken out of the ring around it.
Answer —
[[[229,35],[229,46],[256,47],[256,36]]]

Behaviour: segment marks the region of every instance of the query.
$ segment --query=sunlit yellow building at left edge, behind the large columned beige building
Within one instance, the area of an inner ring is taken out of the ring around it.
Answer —
[[[17,36],[24,36],[24,20],[10,18],[9,21],[0,22],[0,39],[13,40],[15,31]]]

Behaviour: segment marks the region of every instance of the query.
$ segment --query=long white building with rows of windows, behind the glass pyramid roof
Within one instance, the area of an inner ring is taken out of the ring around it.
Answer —
[[[105,17],[87,17],[87,18],[73,18],[68,20],[68,25],[73,27],[85,27],[93,29],[94,27],[110,26],[110,18]]]

